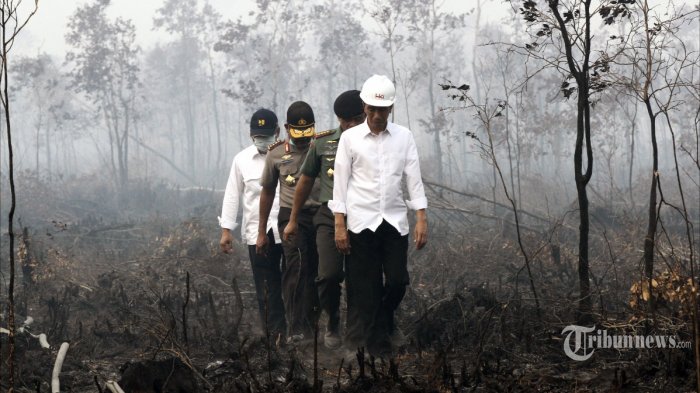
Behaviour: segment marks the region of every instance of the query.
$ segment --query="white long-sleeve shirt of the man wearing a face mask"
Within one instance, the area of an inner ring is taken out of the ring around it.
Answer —
[[[260,177],[265,167],[265,156],[258,152],[255,145],[248,146],[236,154],[231,164],[231,172],[226,183],[224,203],[219,217],[222,228],[234,230],[238,223],[239,200],[243,200],[243,217],[241,236],[248,245],[254,245],[258,239],[258,223],[260,222]],[[279,191],[275,194],[270,217],[267,220],[267,230],[272,229],[275,242],[280,243],[277,229],[277,213],[279,213]]]

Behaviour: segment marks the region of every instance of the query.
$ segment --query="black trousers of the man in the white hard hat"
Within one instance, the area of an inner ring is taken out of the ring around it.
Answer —
[[[386,221],[375,232],[349,232],[351,258],[345,263],[350,348],[364,346],[371,353],[389,351],[394,312],[408,285],[408,235]]]

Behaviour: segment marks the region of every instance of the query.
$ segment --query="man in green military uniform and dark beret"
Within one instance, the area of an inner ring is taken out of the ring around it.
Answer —
[[[286,240],[297,232],[299,211],[306,203],[314,181],[318,177],[321,183],[319,199],[321,207],[314,216],[319,257],[316,286],[318,287],[321,310],[328,315],[328,325],[323,343],[329,349],[336,349],[341,344],[339,308],[344,255],[338,252],[335,247],[335,221],[333,213],[328,209],[328,201],[333,198],[333,164],[340,134],[365,121],[360,92],[349,90],[339,95],[333,105],[333,111],[338,116],[340,125],[334,130],[316,134],[316,142],[309,149],[301,168],[301,179],[294,193],[291,217],[282,235],[283,239]],[[348,320],[354,319],[354,309],[351,307],[351,303],[349,300]],[[352,326],[352,323],[348,323],[348,326]]]

